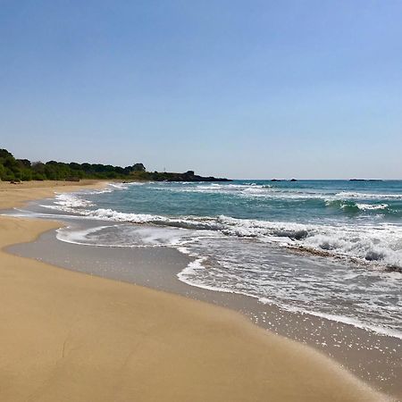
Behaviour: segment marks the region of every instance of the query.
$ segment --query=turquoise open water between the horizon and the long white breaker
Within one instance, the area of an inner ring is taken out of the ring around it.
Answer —
[[[131,186],[93,197],[101,208],[166,216],[219,216],[277,222],[395,222],[402,219],[402,181],[237,180]]]

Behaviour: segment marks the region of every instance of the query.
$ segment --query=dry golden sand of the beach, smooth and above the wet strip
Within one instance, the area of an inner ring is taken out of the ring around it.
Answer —
[[[62,187],[53,184],[1,183],[0,207],[50,197]],[[1,216],[0,247],[57,226]],[[1,401],[382,398],[329,358],[230,310],[4,251],[0,306]]]

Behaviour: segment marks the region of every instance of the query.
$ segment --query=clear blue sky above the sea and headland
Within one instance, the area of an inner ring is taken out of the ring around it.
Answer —
[[[0,0],[0,147],[402,179],[402,1]]]

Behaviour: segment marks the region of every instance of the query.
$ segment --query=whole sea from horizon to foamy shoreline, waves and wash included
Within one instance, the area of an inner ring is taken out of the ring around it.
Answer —
[[[402,180],[113,183],[43,206],[99,222],[61,241],[174,247],[191,286],[402,339]]]

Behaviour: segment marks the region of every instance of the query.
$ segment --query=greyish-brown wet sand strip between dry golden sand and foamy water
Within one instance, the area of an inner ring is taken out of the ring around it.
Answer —
[[[77,230],[111,224],[65,218],[63,222]],[[56,239],[55,231],[49,231],[35,242],[8,247],[7,251],[69,270],[135,283],[229,307],[247,315],[252,322],[264,329],[306,343],[333,357],[377,389],[397,398],[402,396],[400,339],[365,331],[343,322],[264,305],[254,297],[190,286],[177,277],[177,273],[191,261],[190,257],[176,249],[82,246],[60,241]]]

